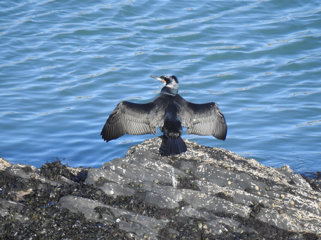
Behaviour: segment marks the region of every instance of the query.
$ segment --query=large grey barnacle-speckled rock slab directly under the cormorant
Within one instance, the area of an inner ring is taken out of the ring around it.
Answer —
[[[105,163],[105,171],[112,173],[108,180],[124,187],[126,181],[133,181],[134,186],[129,188],[136,189],[136,195],[144,189],[145,200],[160,207],[174,208],[175,202],[183,200],[193,209],[251,218],[249,213],[254,203],[262,203],[264,208],[255,216],[257,220],[284,230],[321,233],[320,192],[312,190],[289,166],[267,167],[228,150],[208,148],[187,140],[186,153],[163,157],[158,155],[160,141],[160,138],[145,140],[130,148],[126,158]],[[195,179],[200,191],[170,190],[176,189],[179,175]],[[173,187],[155,188],[152,183],[155,179],[171,183]],[[141,188],[139,183],[143,184]],[[220,192],[232,200],[216,197]]]

